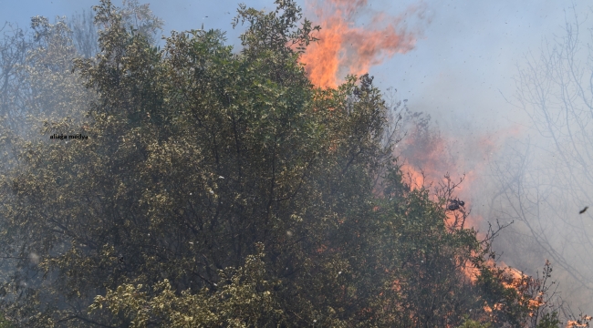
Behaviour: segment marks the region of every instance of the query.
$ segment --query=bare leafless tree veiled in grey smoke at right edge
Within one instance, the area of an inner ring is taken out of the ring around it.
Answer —
[[[539,56],[527,56],[518,67],[509,103],[530,118],[533,134],[510,145],[494,165],[499,192],[493,214],[518,223],[505,240],[525,250],[514,252],[516,261],[550,258],[560,269],[557,278],[571,286],[566,295],[590,312],[591,215],[579,211],[593,200],[593,62],[577,13],[568,13],[573,18],[567,17],[563,36],[546,40]]]

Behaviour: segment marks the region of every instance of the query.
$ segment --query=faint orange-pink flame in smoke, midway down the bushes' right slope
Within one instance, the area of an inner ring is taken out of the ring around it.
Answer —
[[[465,204],[461,210],[448,210],[446,222],[453,227],[461,218],[465,228],[478,229],[483,218],[475,213],[465,214],[472,208],[473,197],[483,191],[479,178],[488,173],[489,159],[503,148],[505,138],[516,136],[520,128],[515,126],[478,138],[458,139],[419,128],[414,122],[409,125],[408,135],[397,145],[395,153],[401,159],[403,181],[411,190],[425,188],[434,191],[448,182],[457,184],[463,177],[463,183],[454,189],[453,198],[459,198]],[[450,175],[450,181],[445,179],[446,174]],[[433,200],[437,200],[436,196],[432,195]]]

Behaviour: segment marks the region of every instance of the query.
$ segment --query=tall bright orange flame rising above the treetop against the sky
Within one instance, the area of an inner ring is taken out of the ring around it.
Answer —
[[[386,58],[414,48],[416,34],[407,31],[406,18],[424,19],[423,6],[411,6],[405,14],[372,13],[363,26],[354,26],[362,13],[369,12],[367,0],[308,0],[321,26],[316,43],[307,47],[301,62],[317,87],[337,87],[346,75],[361,75]]]

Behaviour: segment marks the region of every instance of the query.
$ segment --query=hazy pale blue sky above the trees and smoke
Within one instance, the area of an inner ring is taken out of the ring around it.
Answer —
[[[307,4],[305,0],[298,0],[297,3],[304,7],[305,15],[317,23],[317,5],[323,5],[324,0]],[[98,4],[92,0],[0,0],[0,22],[28,26],[31,16],[68,16],[88,11]],[[120,5],[120,2],[114,1],[114,4]],[[165,36],[171,30],[189,30],[203,25],[206,29],[227,31],[228,43],[238,45],[237,36],[242,29],[233,30],[231,26],[238,5],[236,0],[155,0],[150,4],[153,13],[165,22]],[[245,1],[245,5],[265,10],[275,8],[272,0],[250,0]],[[406,14],[410,13],[411,6],[420,8],[416,12],[421,12],[422,19]],[[356,19],[349,22],[350,26],[364,28],[365,24],[373,24],[373,17],[380,16],[387,24],[389,20],[397,22],[416,38],[410,51],[388,56],[369,68],[376,86],[382,90],[396,88],[397,96],[408,100],[408,108],[430,114],[450,143],[462,145],[472,145],[473,140],[484,138],[503,144],[505,138],[516,137],[509,131],[520,131],[523,137],[534,133],[525,113],[507,102],[515,93],[517,69],[525,67],[526,56],[538,56],[546,40],[563,36],[565,22],[574,21],[575,12],[579,20],[593,13],[584,0],[573,3],[564,0],[368,0],[359,11]],[[591,26],[590,21],[588,23]],[[475,152],[470,146],[466,147],[465,153]],[[481,156],[482,152],[480,159]],[[465,169],[472,168],[459,168],[460,171]],[[475,187],[472,192],[476,192]]]

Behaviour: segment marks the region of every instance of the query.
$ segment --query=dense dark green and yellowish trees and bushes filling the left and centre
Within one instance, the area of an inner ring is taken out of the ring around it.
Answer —
[[[550,270],[509,277],[448,206],[454,186],[405,183],[371,77],[310,83],[317,28],[294,2],[240,6],[237,52],[214,30],[160,49],[160,20],[128,4],[95,8],[96,54],[63,21],[5,35],[26,57],[2,71],[0,324],[560,324]]]

